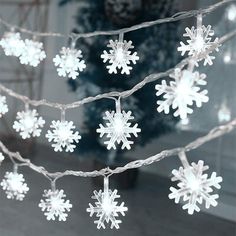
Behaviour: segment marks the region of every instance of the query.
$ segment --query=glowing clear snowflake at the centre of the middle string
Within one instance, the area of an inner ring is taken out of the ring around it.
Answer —
[[[106,134],[106,137],[109,140],[105,141],[104,144],[107,145],[108,150],[111,148],[116,149],[115,143],[120,144],[121,142],[121,149],[131,149],[130,145],[134,143],[133,141],[129,140],[131,134],[137,137],[137,133],[141,132],[141,129],[138,128],[138,124],[131,126],[129,120],[134,119],[131,114],[131,111],[105,112],[105,117],[103,117],[103,119],[108,122],[106,122],[106,127],[100,124],[100,128],[97,129],[97,132],[100,133],[100,137],[103,137],[103,135]]]

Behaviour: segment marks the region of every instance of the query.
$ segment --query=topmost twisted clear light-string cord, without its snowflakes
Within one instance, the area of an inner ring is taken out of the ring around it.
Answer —
[[[175,22],[175,21],[191,18],[191,17],[197,16],[199,14],[206,15],[206,14],[209,14],[209,13],[215,11],[216,9],[218,9],[218,8],[228,4],[230,2],[235,2],[235,0],[223,0],[223,1],[220,1],[216,4],[213,4],[213,5],[210,5],[206,8],[203,8],[203,9],[191,10],[191,11],[182,11],[182,12],[178,12],[178,13],[174,14],[171,17],[167,17],[167,18],[163,18],[163,19],[157,19],[157,20],[154,20],[154,21],[147,21],[147,22],[143,22],[141,24],[137,24],[137,25],[127,27],[127,28],[122,28],[122,29],[118,29],[118,30],[109,30],[109,31],[94,31],[94,32],[89,32],[89,33],[61,34],[61,33],[55,33],[55,32],[31,31],[31,30],[19,27],[17,25],[10,24],[2,18],[0,18],[0,23],[2,25],[4,25],[5,27],[7,27],[8,29],[10,29],[10,30],[15,29],[15,30],[20,31],[22,33],[34,35],[34,36],[37,36],[37,37],[60,37],[60,38],[70,37],[70,38],[77,38],[77,39],[78,38],[89,38],[89,37],[95,37],[95,36],[99,36],[99,35],[119,35],[119,34],[124,34],[124,33],[131,32],[131,31],[151,27],[151,26],[154,26],[154,25],[159,25],[159,24],[164,24],[164,23],[169,23],[169,22]]]

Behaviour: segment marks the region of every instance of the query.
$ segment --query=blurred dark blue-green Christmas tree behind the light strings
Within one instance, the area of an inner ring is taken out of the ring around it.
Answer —
[[[72,0],[62,0],[61,5]],[[177,7],[174,1],[160,0],[86,0],[78,1],[76,15],[77,28],[74,32],[93,32],[128,27],[144,21],[172,16]],[[95,96],[109,91],[124,91],[132,88],[145,76],[158,73],[174,66],[179,55],[176,51],[179,43],[178,23],[161,24],[137,30],[124,35],[124,39],[132,40],[140,57],[130,75],[109,74],[101,59],[108,40],[117,36],[98,36],[77,41],[77,48],[82,50],[87,69],[79,79],[69,80],[69,85],[78,94],[79,99]],[[155,83],[156,84],[156,83]],[[141,133],[134,140],[134,146],[145,145],[154,138],[172,130],[176,119],[172,114],[155,112],[157,97],[155,84],[150,83],[132,96],[122,99],[123,110],[131,110],[135,122],[139,124]],[[108,151],[96,133],[105,111],[115,110],[112,100],[99,100],[84,107],[84,125],[82,139],[78,151],[93,152],[96,156],[106,157]],[[119,148],[117,149],[119,150]],[[122,151],[117,151],[122,152]]]

